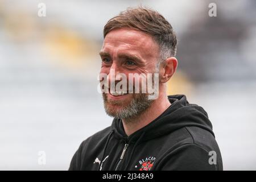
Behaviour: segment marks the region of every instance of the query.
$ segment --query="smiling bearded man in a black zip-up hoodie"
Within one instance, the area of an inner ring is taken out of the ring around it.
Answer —
[[[154,73],[158,94],[150,99],[148,90],[131,93],[135,86],[129,92],[106,86],[102,95],[106,113],[114,117],[112,126],[81,143],[69,170],[222,170],[205,110],[184,95],[166,95],[177,68],[176,44],[171,24],[154,10],[127,9],[106,23],[100,73],[114,85],[126,81],[116,77],[119,73],[127,79]]]

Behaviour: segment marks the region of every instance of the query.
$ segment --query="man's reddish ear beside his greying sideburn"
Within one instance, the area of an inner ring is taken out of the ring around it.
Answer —
[[[168,80],[170,80],[170,78],[172,77],[172,75],[174,75],[176,71],[177,64],[178,62],[176,57],[169,57],[164,61],[162,65],[160,65],[160,70],[159,70],[160,83],[165,83]]]

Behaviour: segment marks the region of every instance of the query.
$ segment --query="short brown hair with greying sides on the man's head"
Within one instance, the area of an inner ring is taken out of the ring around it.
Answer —
[[[158,12],[143,7],[128,8],[106,23],[104,38],[113,29],[123,27],[133,28],[150,35],[159,45],[159,62],[176,55],[175,32],[171,24]]]

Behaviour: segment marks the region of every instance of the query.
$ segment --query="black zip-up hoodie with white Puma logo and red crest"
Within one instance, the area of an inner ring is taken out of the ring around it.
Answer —
[[[81,143],[69,170],[222,170],[206,111],[184,95],[129,137],[121,119]]]

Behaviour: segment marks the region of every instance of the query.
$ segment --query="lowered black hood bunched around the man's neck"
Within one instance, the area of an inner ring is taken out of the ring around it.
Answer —
[[[189,104],[186,96],[181,94],[168,96],[168,100],[171,102],[171,106],[168,109],[147,126],[129,135],[129,137],[125,134],[122,120],[118,118],[113,119],[111,133],[117,139],[125,140],[127,143],[136,142],[137,144],[162,137],[186,126],[200,127],[209,131],[214,136],[212,124],[203,107]]]

